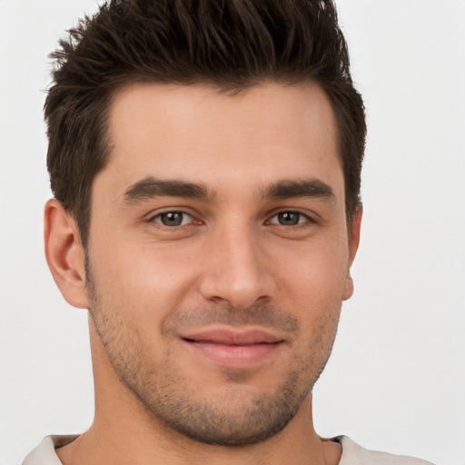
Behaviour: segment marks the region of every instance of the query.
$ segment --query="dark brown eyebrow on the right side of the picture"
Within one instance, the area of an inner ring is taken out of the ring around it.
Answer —
[[[272,183],[260,192],[262,199],[292,199],[299,197],[321,197],[334,199],[334,191],[319,179],[282,180]]]

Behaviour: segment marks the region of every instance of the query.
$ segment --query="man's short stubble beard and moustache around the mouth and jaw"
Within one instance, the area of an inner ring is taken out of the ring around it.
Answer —
[[[312,334],[296,352],[292,366],[284,371],[282,382],[272,392],[257,392],[247,381],[250,371],[224,369],[228,385],[222,395],[205,396],[183,377],[173,360],[170,344],[163,356],[153,357],[144,347],[138,327],[122,308],[101,295],[88,268],[87,294],[95,328],[116,375],[141,402],[152,418],[164,427],[205,444],[244,446],[261,442],[283,430],[311,393],[328,361],[337,331],[339,312],[322,312]],[[214,305],[204,309],[180,309],[162,323],[165,341],[171,341],[183,328],[223,324],[258,325],[279,329],[297,340],[301,327],[289,312],[271,305],[233,309]],[[156,361],[154,360],[156,359]],[[199,377],[208,373],[199,372]]]

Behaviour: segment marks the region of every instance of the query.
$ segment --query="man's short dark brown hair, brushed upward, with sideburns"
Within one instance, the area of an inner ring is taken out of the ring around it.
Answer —
[[[320,84],[336,115],[348,222],[360,204],[365,114],[331,0],[112,0],[51,56],[47,166],[84,245],[94,176],[111,151],[108,109],[118,89],[137,82],[223,91],[264,81]]]

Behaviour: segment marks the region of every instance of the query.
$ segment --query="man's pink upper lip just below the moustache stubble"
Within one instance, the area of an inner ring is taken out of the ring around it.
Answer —
[[[272,344],[281,342],[282,337],[261,329],[208,329],[187,333],[184,340],[223,345]]]

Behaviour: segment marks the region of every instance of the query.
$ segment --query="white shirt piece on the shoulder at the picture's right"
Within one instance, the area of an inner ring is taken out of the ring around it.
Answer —
[[[433,465],[429,461],[413,457],[363,449],[347,436],[338,436],[333,440],[340,442],[342,446],[339,465]]]

